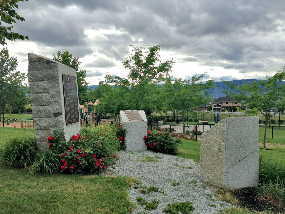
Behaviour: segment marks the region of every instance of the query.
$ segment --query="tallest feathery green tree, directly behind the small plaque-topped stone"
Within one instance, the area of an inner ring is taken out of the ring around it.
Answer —
[[[144,45],[133,48],[133,54],[122,62],[124,68],[129,70],[128,78],[107,74],[105,79],[106,83],[123,86],[128,90],[129,100],[134,103],[136,110],[145,110],[153,102],[148,90],[169,76],[173,64],[172,59],[160,63],[160,46],[149,46],[145,53],[143,50]]]

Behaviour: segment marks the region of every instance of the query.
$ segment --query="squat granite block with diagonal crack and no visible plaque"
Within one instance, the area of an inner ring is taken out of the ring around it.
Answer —
[[[201,136],[201,180],[217,187],[258,185],[258,117],[225,118]]]

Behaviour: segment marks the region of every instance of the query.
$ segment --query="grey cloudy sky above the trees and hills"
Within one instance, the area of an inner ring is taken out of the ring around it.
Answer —
[[[14,32],[28,41],[7,42],[27,73],[28,53],[79,57],[90,85],[105,74],[126,77],[130,45],[160,45],[173,58],[171,75],[207,72],[217,80],[265,79],[285,66],[285,2],[262,0],[29,0],[19,2]]]

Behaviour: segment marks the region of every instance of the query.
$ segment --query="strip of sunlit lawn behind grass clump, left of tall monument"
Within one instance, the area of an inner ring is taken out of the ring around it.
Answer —
[[[11,137],[25,136],[30,134],[34,134],[34,129],[21,129],[0,126],[0,145]]]

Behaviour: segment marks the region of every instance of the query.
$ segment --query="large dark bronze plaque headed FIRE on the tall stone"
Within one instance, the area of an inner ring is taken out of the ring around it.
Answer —
[[[79,122],[77,82],[75,76],[62,74],[66,125]]]

